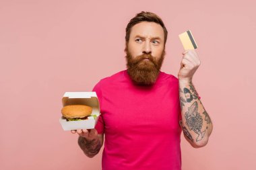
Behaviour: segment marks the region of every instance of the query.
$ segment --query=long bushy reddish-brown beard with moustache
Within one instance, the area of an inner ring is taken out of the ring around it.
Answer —
[[[125,48],[126,61],[127,61],[127,73],[131,77],[133,83],[137,85],[153,85],[156,82],[162,62],[164,61],[165,50],[162,50],[162,54],[159,59],[156,59],[151,54],[141,54],[133,58],[129,49]],[[148,58],[148,60],[144,60]]]

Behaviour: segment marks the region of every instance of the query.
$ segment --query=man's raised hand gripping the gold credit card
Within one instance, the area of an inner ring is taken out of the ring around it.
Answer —
[[[178,78],[181,81],[192,81],[192,77],[201,64],[197,52],[195,50],[185,50],[183,59],[181,60],[181,69],[178,73]]]

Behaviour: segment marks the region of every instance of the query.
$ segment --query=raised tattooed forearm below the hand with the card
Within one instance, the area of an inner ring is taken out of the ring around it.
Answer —
[[[180,125],[185,138],[195,148],[205,146],[213,125],[192,81],[179,80],[179,96],[182,115]]]

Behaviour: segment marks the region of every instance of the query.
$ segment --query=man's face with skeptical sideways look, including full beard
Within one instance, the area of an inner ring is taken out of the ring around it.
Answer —
[[[152,85],[164,60],[164,30],[154,22],[141,22],[131,28],[126,44],[127,71],[134,83]]]

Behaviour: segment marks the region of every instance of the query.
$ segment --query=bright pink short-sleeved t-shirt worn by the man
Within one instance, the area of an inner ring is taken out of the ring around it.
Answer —
[[[152,87],[134,85],[127,71],[101,79],[96,125],[105,134],[103,170],[180,170],[179,80],[160,72]]]

